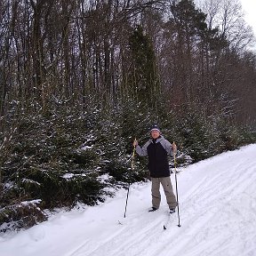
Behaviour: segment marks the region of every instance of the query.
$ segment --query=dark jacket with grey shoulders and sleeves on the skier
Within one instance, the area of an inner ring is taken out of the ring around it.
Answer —
[[[142,148],[138,145],[136,152],[140,156],[148,156],[148,170],[152,178],[170,176],[168,155],[173,156],[172,144],[163,136],[148,140]]]

